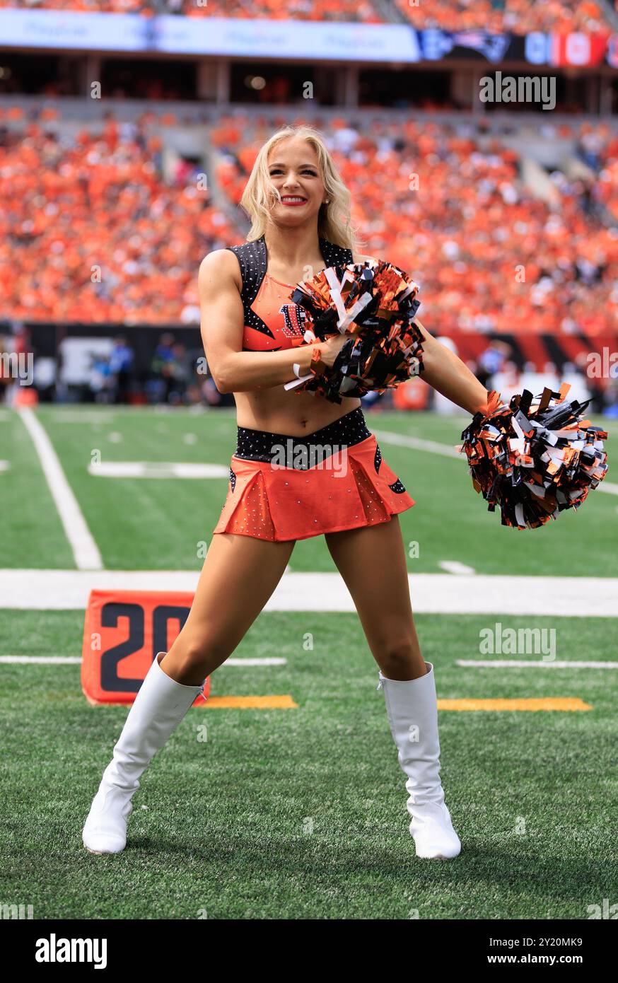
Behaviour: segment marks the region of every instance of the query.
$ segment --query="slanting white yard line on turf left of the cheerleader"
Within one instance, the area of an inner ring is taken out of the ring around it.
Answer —
[[[66,479],[51,440],[30,409],[25,408],[19,412],[36,448],[49,491],[73,549],[76,566],[80,570],[101,570],[103,568],[101,554],[86,525],[78,499]]]

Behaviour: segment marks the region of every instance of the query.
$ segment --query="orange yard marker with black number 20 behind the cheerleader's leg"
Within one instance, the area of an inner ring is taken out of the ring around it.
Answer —
[[[90,591],[82,645],[88,703],[133,703],[156,654],[180,634],[193,601],[193,593],[179,591]],[[209,690],[207,678],[204,697]],[[198,695],[194,706],[205,705]]]

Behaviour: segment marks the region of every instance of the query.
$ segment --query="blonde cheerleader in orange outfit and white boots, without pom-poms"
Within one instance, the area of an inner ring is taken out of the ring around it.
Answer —
[[[350,193],[311,127],[286,127],[261,147],[241,204],[252,219],[247,242],[215,250],[198,271],[209,370],[237,406],[227,497],[187,621],[145,676],[92,802],[84,845],[93,853],[124,849],[140,775],[205,677],[245,636],[295,542],[323,535],[378,666],[417,855],[452,858],[461,842],[439,775],[434,667],[421,656],[398,517],[415,502],[367,429],[360,399],[337,404],[285,388],[309,374],[316,347],[332,366],[347,337],[303,344],[303,311],[290,301],[296,283],[373,258],[357,252]],[[484,409],[486,389],[420,327],[422,378],[469,413]]]

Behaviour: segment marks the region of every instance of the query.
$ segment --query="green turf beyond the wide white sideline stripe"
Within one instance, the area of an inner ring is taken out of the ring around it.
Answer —
[[[4,510],[13,518],[0,543],[0,567],[75,566],[28,433],[15,414],[4,412],[0,459],[11,467],[0,474],[0,481]],[[93,423],[81,422],[89,415]],[[209,540],[227,478],[99,478],[89,475],[87,466],[96,451],[104,462],[228,466],[236,446],[231,412],[41,407],[37,416],[53,441],[107,569],[200,569],[198,544]],[[367,412],[366,419],[369,429],[453,447],[470,418]],[[615,422],[603,425],[618,436]],[[188,438],[195,442],[185,442]],[[408,561],[410,572],[434,573],[441,560],[458,560],[478,573],[616,575],[618,496],[592,492],[583,508],[571,509],[541,530],[507,529],[497,514],[487,513],[464,458],[379,442],[385,460],[417,502],[400,516],[405,542],[419,544],[419,555]],[[611,467],[607,480],[612,481]],[[332,570],[323,538],[299,542],[290,566],[299,571]]]

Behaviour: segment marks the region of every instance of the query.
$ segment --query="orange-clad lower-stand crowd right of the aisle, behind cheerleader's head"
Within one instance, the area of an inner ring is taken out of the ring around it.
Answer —
[[[239,202],[273,120],[222,119],[217,180]],[[402,118],[361,130],[343,118],[322,125],[352,192],[365,252],[398,263],[421,285],[434,325],[482,331],[613,330],[618,304],[618,228],[613,208],[618,142],[603,125],[547,127],[546,138],[589,137],[600,170],[590,185],[556,173],[558,205],[523,187],[519,157],[497,138]],[[579,132],[578,132],[579,131]]]

